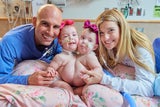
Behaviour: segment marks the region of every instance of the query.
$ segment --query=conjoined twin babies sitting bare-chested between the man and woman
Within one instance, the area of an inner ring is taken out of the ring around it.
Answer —
[[[83,75],[83,71],[102,73],[102,67],[94,53],[98,47],[97,26],[86,20],[78,42],[78,35],[73,25],[65,24],[61,29],[59,40],[63,52],[55,56],[47,68],[49,72],[57,71],[60,78],[52,86],[66,88],[72,92],[74,89],[74,93],[80,95],[88,78],[88,75]]]

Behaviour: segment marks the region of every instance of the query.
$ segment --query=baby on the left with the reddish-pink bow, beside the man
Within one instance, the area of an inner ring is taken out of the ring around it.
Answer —
[[[51,75],[57,75],[55,78],[56,81],[53,82],[51,87],[66,88],[67,90],[73,92],[70,85],[75,85],[75,83],[73,83],[76,71],[75,52],[79,38],[76,28],[74,27],[74,22],[72,20],[65,20],[62,23],[58,38],[63,51],[60,54],[57,54],[47,67],[47,71],[50,72]]]

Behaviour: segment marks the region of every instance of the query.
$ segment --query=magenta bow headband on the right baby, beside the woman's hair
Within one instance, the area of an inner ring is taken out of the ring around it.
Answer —
[[[96,43],[98,44],[98,27],[96,24],[91,24],[89,20],[86,20],[84,22],[83,28],[89,28],[91,31],[93,31],[96,34]]]

